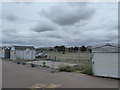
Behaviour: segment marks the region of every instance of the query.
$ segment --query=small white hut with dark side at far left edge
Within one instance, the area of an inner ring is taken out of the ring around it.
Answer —
[[[0,47],[0,58],[10,58],[10,47]]]

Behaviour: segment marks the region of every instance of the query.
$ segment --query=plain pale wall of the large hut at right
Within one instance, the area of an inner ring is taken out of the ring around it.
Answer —
[[[118,77],[118,53],[93,53],[96,76]]]

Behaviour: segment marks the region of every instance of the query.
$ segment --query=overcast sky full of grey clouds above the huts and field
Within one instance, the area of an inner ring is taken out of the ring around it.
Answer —
[[[4,2],[1,19],[3,45],[118,43],[117,2]]]

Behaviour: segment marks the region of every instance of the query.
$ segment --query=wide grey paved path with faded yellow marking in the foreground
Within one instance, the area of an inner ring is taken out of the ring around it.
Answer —
[[[49,68],[33,68],[4,60],[2,87],[117,88],[118,80],[67,72],[52,74]]]

